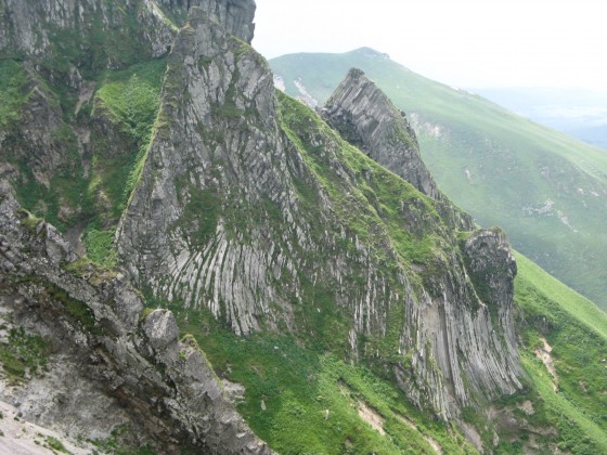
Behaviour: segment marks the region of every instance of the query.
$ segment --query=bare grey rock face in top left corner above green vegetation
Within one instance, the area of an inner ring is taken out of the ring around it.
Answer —
[[[122,67],[134,49],[142,58],[164,55],[175,37],[153,1],[127,0],[120,8],[104,0],[2,0],[0,9],[0,55],[60,60],[75,79],[91,64]]]

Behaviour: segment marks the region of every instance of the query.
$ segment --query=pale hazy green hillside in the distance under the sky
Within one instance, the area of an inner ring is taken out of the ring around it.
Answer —
[[[370,49],[270,62],[286,92],[321,104],[350,67],[374,80],[414,125],[447,195],[482,225],[607,308],[607,154],[474,94],[421,77]]]

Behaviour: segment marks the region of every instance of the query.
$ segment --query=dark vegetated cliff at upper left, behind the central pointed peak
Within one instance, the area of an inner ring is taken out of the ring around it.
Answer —
[[[0,148],[21,203],[62,230],[95,218],[107,249],[194,4],[253,39],[254,1],[0,1]]]

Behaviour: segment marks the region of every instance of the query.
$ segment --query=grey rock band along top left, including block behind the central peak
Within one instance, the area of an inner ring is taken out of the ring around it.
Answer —
[[[116,54],[104,50],[98,55],[98,64],[107,68],[124,65],[125,55],[120,51],[128,49],[132,41],[139,44],[139,51],[151,57],[167,53],[176,35],[173,26],[165,17],[164,6],[172,15],[188,14],[191,6],[198,6],[230,35],[250,43],[255,26],[254,0],[127,0],[118,6],[106,0],[3,0],[0,4],[7,14],[0,18],[0,55],[11,56],[20,52],[37,57],[66,58],[61,44],[55,38],[63,34],[69,40],[80,40],[82,58],[90,58],[95,49],[90,31],[104,34],[114,40]],[[129,20],[138,24],[133,27]],[[40,26],[44,24],[44,26]],[[99,39],[99,38],[94,38]],[[70,44],[66,42],[65,44]],[[127,46],[126,46],[127,44]],[[142,55],[144,56],[144,55]],[[82,62],[72,62],[77,72]]]

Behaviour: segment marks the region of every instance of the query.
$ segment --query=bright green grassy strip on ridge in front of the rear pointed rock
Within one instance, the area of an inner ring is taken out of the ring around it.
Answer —
[[[434,248],[438,238],[432,234],[441,225],[434,202],[345,142],[300,102],[281,92],[277,92],[277,96],[282,128],[301,153],[308,169],[331,197],[338,210],[336,214],[339,220],[358,238],[370,245],[379,245],[383,236],[390,235],[397,240],[395,246],[405,262],[429,262],[436,250],[439,250]],[[335,150],[327,152],[324,144],[314,144],[321,134],[334,141]],[[344,182],[336,178],[336,164],[331,161],[333,156],[338,159],[339,166],[352,172],[351,181]],[[310,195],[310,188],[300,186],[300,190],[304,197],[314,197]],[[402,217],[402,212],[406,209],[424,213],[425,220],[419,220],[422,222],[417,225],[418,235],[411,234],[405,225],[406,219]],[[379,232],[373,232],[372,226]]]

